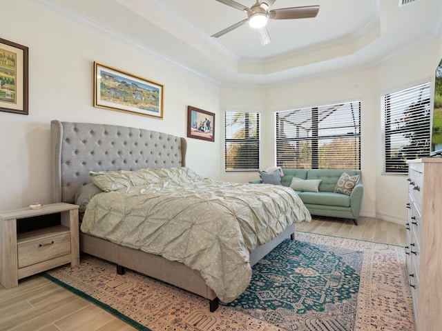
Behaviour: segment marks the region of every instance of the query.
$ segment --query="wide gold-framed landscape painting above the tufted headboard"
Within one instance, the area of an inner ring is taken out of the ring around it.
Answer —
[[[162,119],[164,86],[94,62],[94,106]]]

